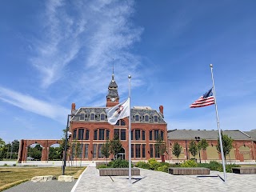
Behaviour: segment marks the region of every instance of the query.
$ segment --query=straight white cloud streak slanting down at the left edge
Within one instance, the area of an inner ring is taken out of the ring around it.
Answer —
[[[58,122],[63,122],[63,119],[66,118],[66,114],[69,114],[70,111],[62,106],[54,105],[53,103],[46,101],[40,101],[30,95],[21,94],[14,90],[8,90],[2,86],[0,86],[0,100],[34,114],[52,118]]]

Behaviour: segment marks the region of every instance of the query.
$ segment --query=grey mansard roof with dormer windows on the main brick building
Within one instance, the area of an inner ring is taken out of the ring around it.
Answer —
[[[78,110],[72,111],[74,115],[85,114],[85,122],[90,121],[90,114],[95,114],[95,121],[100,121],[100,114],[106,114],[106,107],[81,107]],[[136,123],[156,123],[156,124],[166,124],[166,121],[162,118],[162,115],[158,113],[157,110],[152,110],[150,107],[135,107],[130,109],[130,120],[135,122],[135,115],[139,115],[139,121]],[[149,115],[149,122],[145,122],[145,116]],[[154,116],[158,117],[158,122],[154,122]],[[78,116],[71,118],[71,121],[79,121]],[[102,122],[102,121],[101,121]],[[106,119],[107,122],[107,119]]]

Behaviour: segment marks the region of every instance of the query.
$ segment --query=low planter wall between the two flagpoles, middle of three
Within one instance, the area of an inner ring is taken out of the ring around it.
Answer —
[[[170,167],[169,174],[210,174],[210,169],[204,167]]]

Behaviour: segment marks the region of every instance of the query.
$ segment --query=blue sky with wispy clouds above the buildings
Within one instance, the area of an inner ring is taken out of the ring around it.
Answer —
[[[256,2],[3,1],[0,138],[61,138],[72,102],[164,106],[168,129],[217,130],[214,106],[189,106],[212,86],[222,130],[256,129]]]

